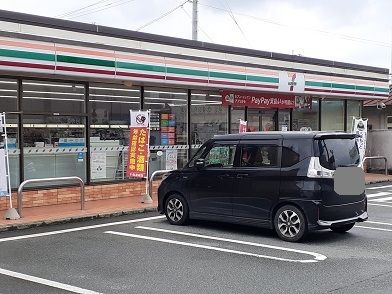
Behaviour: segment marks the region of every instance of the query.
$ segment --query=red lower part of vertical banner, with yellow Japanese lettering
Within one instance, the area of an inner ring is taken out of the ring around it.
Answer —
[[[130,128],[127,167],[128,177],[144,178],[147,176],[148,140],[148,128]]]

